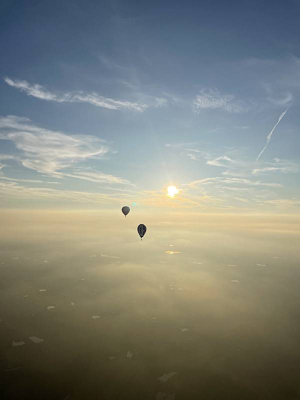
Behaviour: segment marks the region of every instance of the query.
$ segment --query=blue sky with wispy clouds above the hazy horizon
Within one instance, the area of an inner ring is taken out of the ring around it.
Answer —
[[[298,212],[299,1],[0,11],[2,206]]]

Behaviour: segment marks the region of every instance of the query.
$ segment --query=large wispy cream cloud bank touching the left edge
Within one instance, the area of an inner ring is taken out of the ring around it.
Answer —
[[[118,176],[77,166],[78,162],[103,158],[111,152],[106,142],[96,136],[68,135],[36,126],[28,118],[8,115],[0,117],[0,139],[13,141],[21,152],[19,162],[37,172],[56,178],[131,184]]]

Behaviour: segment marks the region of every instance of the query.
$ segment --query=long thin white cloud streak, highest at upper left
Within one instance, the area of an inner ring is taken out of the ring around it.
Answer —
[[[5,77],[4,81],[12,87],[25,92],[29,96],[39,98],[41,100],[56,101],[56,102],[85,102],[92,104],[96,107],[104,107],[109,109],[133,109],[135,111],[143,111],[148,107],[147,104],[131,102],[127,100],[113,100],[109,97],[104,97],[96,92],[86,93],[83,91],[54,93],[46,90],[42,85],[31,84],[26,80],[13,80]],[[166,99],[155,98],[154,106],[164,105]]]

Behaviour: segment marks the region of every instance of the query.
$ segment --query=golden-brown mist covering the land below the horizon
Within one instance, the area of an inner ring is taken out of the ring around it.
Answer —
[[[0,223],[3,398],[299,395],[298,217],[2,210]]]

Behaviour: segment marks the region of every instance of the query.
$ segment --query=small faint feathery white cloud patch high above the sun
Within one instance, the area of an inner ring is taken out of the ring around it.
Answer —
[[[216,109],[220,108],[227,112],[243,112],[247,108],[241,101],[235,100],[233,94],[220,94],[216,89],[202,89],[194,101],[194,112],[199,113],[201,108]]]

